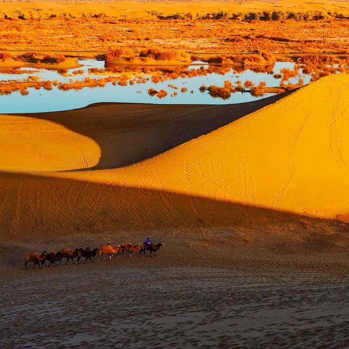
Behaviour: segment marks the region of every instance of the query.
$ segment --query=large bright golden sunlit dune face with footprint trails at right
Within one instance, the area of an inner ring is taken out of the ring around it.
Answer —
[[[150,160],[74,176],[311,216],[346,217],[348,133],[349,75],[334,75]]]

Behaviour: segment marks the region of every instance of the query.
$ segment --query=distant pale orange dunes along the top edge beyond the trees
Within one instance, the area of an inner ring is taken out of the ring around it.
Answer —
[[[67,1],[69,2],[69,1]],[[46,1],[28,1],[28,2],[9,2],[1,5],[2,11],[13,11],[20,9],[22,12],[28,11],[43,11],[47,13],[70,12],[74,15],[81,15],[84,13],[101,13],[107,15],[120,16],[126,15],[128,17],[145,17],[149,16],[149,11],[157,10],[163,12],[165,15],[172,15],[176,12],[199,12],[206,14],[212,11],[250,11],[250,10],[273,10],[283,8],[284,10],[322,10],[322,11],[339,11],[342,13],[349,13],[348,2],[346,1],[331,1],[331,0],[280,0],[280,1],[174,1],[169,3],[159,2],[138,2],[138,1],[108,1],[105,3],[88,2],[69,4]]]

